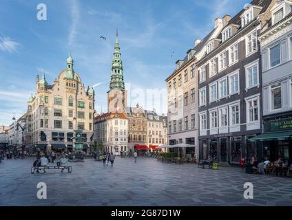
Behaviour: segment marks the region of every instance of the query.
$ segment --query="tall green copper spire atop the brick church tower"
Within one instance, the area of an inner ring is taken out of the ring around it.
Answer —
[[[114,46],[114,58],[112,59],[110,89],[125,90],[123,63],[121,59],[120,45],[118,44],[118,30],[116,30],[116,45]]]

